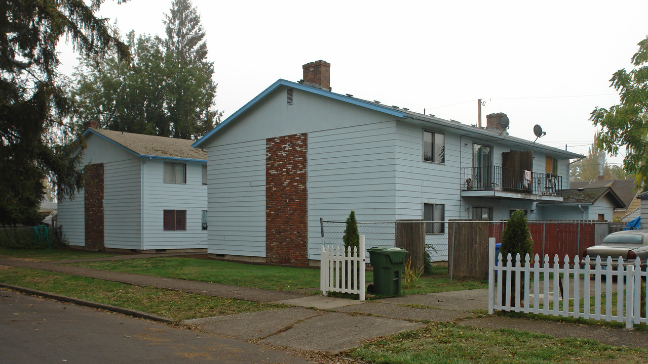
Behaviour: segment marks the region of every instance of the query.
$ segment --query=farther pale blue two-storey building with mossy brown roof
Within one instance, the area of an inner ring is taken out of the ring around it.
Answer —
[[[69,244],[137,252],[207,248],[207,153],[191,140],[91,126],[83,133],[85,189],[58,202]]]

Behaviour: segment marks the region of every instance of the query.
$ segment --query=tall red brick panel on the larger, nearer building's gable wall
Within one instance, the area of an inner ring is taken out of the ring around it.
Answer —
[[[308,134],[266,139],[266,262],[308,265]]]

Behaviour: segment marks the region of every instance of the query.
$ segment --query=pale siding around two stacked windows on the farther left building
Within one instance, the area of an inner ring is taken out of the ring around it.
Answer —
[[[207,186],[202,184],[202,166],[186,162],[187,183],[164,182],[164,162],[144,164],[144,247],[145,250],[207,248],[207,231],[202,230],[202,211],[207,209]],[[165,231],[164,210],[187,211],[186,231]]]

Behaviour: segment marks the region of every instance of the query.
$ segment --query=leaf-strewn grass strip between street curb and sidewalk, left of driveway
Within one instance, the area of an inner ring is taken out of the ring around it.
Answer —
[[[194,319],[285,308],[27,268],[0,270],[0,282],[168,317]]]

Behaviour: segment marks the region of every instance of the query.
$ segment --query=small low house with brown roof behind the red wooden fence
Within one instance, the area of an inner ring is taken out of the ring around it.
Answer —
[[[553,207],[544,219],[612,221],[614,209],[625,206],[612,187],[563,189],[562,198],[562,202],[540,203],[546,211]]]

